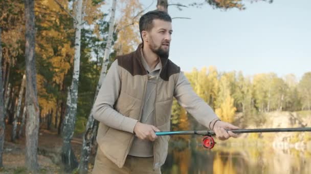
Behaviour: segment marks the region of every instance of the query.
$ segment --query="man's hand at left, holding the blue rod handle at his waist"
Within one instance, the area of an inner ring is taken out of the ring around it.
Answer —
[[[134,127],[134,133],[140,139],[148,139],[150,141],[154,141],[158,138],[158,136],[154,132],[160,132],[160,130],[153,125],[137,122]]]

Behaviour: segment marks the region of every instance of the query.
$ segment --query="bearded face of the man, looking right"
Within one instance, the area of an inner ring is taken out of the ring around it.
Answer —
[[[173,32],[172,23],[160,19],[154,19],[152,22],[153,27],[147,32],[147,44],[154,53],[167,59]]]

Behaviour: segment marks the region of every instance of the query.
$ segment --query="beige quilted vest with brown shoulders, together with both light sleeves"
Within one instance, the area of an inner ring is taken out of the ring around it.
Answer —
[[[147,72],[142,65],[141,45],[134,52],[117,57],[110,67],[94,105],[94,118],[100,122],[97,142],[106,157],[119,167],[124,165],[134,139],[133,130],[141,119],[146,96]],[[202,125],[217,118],[212,109],[193,92],[180,68],[170,60],[163,65],[154,102],[154,126],[170,131],[173,97]],[[153,166],[164,164],[169,136],[153,142]]]

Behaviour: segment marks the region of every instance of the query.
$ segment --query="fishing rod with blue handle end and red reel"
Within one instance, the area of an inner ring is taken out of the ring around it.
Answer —
[[[232,129],[227,130],[233,133],[261,133],[261,132],[310,132],[311,127],[306,128],[265,128],[265,129]],[[190,130],[190,131],[170,131],[170,132],[156,132],[157,136],[164,135],[202,135],[202,145],[206,149],[212,149],[215,146],[215,132],[212,130]]]

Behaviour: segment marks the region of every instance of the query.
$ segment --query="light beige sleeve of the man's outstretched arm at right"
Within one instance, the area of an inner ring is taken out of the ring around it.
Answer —
[[[174,97],[203,126],[209,128],[210,122],[218,119],[212,108],[194,93],[183,72],[180,72],[175,85]]]

